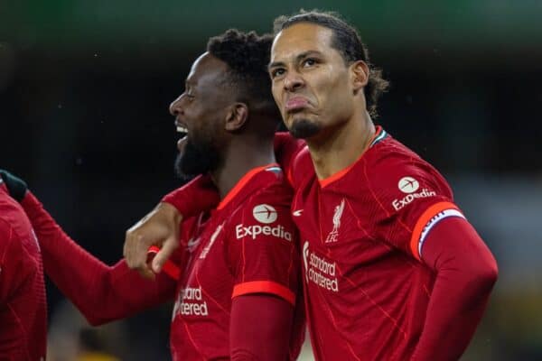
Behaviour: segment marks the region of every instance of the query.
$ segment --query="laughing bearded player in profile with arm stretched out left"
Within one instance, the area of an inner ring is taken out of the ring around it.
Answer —
[[[102,264],[62,232],[31,192],[24,197],[45,272],[93,324],[173,300],[174,360],[299,354],[303,318],[294,310],[300,261],[289,212],[292,190],[273,152],[280,114],[266,73],[271,42],[270,35],[234,30],[211,38],[170,106],[185,134],[177,171],[196,176],[186,190],[209,190],[194,203],[212,209],[191,217],[183,212],[181,224],[177,219],[179,246],[154,280],[124,261]]]

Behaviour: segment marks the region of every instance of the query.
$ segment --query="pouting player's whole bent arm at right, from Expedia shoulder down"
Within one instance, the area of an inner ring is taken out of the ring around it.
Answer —
[[[435,169],[411,155],[394,153],[370,166],[373,171],[365,181],[381,209],[379,237],[435,273],[412,359],[457,360],[496,282],[495,259]]]

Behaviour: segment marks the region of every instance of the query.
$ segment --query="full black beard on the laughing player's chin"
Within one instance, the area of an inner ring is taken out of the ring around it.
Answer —
[[[175,160],[175,173],[182,180],[215,171],[220,165],[220,153],[210,142],[186,141],[182,153]]]

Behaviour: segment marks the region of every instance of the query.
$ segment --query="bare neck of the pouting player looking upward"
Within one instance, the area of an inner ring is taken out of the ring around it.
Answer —
[[[344,125],[334,128],[316,141],[307,140],[314,170],[319,180],[331,177],[348,168],[369,148],[375,134],[369,113],[350,118]]]

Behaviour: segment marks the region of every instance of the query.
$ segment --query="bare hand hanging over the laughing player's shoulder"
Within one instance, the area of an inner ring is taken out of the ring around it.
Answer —
[[[161,202],[149,214],[126,231],[124,256],[129,268],[137,270],[144,277],[153,278],[160,273],[165,261],[179,246],[179,225],[182,215],[171,204]],[[147,253],[152,245],[161,250],[151,264]]]

